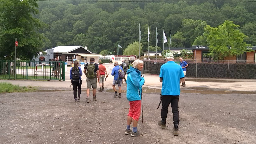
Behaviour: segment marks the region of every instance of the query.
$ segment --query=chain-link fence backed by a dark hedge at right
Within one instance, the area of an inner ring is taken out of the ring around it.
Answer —
[[[174,60],[179,64],[179,59]],[[255,61],[184,60],[189,67],[186,77],[256,79]],[[164,60],[144,60],[143,73],[159,74]]]

